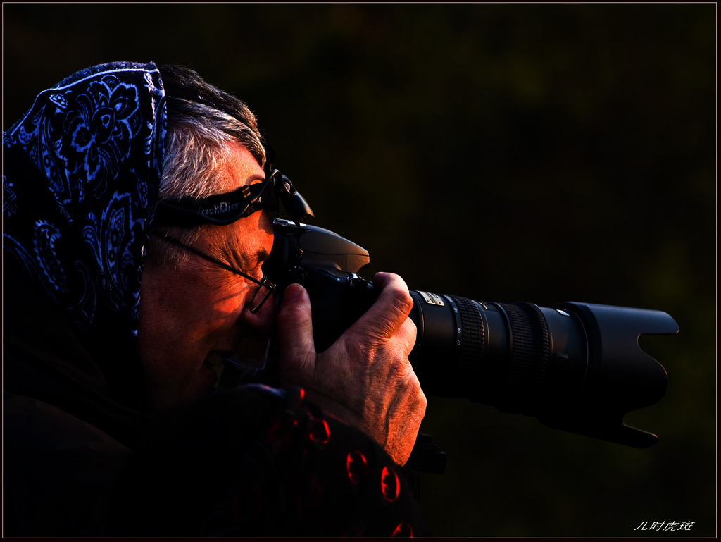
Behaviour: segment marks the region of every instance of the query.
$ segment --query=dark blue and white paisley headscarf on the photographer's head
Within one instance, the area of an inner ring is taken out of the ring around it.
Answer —
[[[155,64],[118,62],[41,92],[3,134],[4,257],[82,333],[137,333],[165,126]]]

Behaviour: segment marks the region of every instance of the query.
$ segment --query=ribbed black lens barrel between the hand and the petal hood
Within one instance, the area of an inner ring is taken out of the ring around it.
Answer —
[[[410,360],[424,389],[505,412],[533,414],[547,379],[551,348],[549,326],[539,307],[446,295],[430,303],[427,292],[411,295],[418,339]]]

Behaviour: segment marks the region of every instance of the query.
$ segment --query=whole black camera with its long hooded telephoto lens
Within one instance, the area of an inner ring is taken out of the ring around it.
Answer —
[[[368,251],[300,222],[276,219],[273,230],[265,274],[279,295],[293,283],[308,290],[314,341],[323,351],[378,297],[378,289],[358,275],[370,263]],[[664,368],[638,344],[643,334],[678,332],[665,312],[410,294],[417,340],[409,359],[425,393],[468,398],[624,445],[656,442],[655,434],[628,427],[623,418],[665,393]]]

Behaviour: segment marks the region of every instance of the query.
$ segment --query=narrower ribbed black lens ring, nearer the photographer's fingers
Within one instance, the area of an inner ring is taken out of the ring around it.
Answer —
[[[458,307],[461,320],[461,344],[456,358],[458,382],[477,385],[482,382],[481,368],[485,328],[478,306],[466,297],[448,296]]]

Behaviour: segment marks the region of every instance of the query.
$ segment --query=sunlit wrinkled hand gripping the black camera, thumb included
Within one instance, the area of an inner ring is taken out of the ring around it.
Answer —
[[[408,287],[397,275],[379,273],[376,303],[326,351],[313,341],[308,292],[291,284],[278,312],[280,377],[300,385],[324,411],[362,429],[399,465],[413,448],[426,399],[408,354],[416,328]]]

